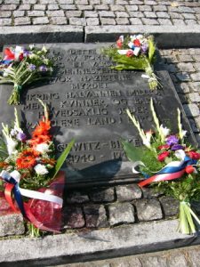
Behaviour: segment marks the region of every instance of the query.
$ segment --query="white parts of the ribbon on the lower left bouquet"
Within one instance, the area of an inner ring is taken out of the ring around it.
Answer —
[[[13,178],[16,182],[20,182],[20,173],[18,171],[13,171],[11,174],[6,171],[2,171],[0,176],[3,179],[10,180],[11,178]],[[38,192],[34,190],[22,189],[20,188],[20,186],[19,186],[19,190],[20,190],[21,196],[45,200],[45,201],[53,202],[55,204],[62,206],[62,203],[63,203],[62,198],[52,195],[51,190],[46,190],[44,193],[42,193],[42,192]]]

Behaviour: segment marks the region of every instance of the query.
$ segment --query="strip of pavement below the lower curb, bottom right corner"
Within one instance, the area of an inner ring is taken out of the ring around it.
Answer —
[[[188,247],[105,261],[58,265],[58,267],[199,267],[199,248],[199,246]]]

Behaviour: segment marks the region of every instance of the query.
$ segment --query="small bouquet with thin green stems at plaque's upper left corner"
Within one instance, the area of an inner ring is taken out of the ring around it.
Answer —
[[[0,84],[13,84],[10,105],[20,103],[20,92],[24,85],[47,78],[52,73],[52,61],[47,58],[45,47],[36,49],[29,45],[29,50],[22,46],[4,49],[4,59],[0,61]]]

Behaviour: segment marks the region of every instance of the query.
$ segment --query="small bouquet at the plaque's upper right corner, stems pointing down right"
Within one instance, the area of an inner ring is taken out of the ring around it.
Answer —
[[[145,70],[151,90],[156,89],[158,80],[153,70],[155,61],[156,44],[153,36],[120,36],[116,46],[104,48],[102,53],[108,55],[116,65],[112,69],[140,69]]]

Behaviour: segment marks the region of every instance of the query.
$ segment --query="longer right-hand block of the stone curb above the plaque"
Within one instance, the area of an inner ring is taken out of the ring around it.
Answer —
[[[120,34],[148,33],[156,37],[158,48],[199,47],[200,25],[193,26],[86,26],[86,43],[115,42]]]

